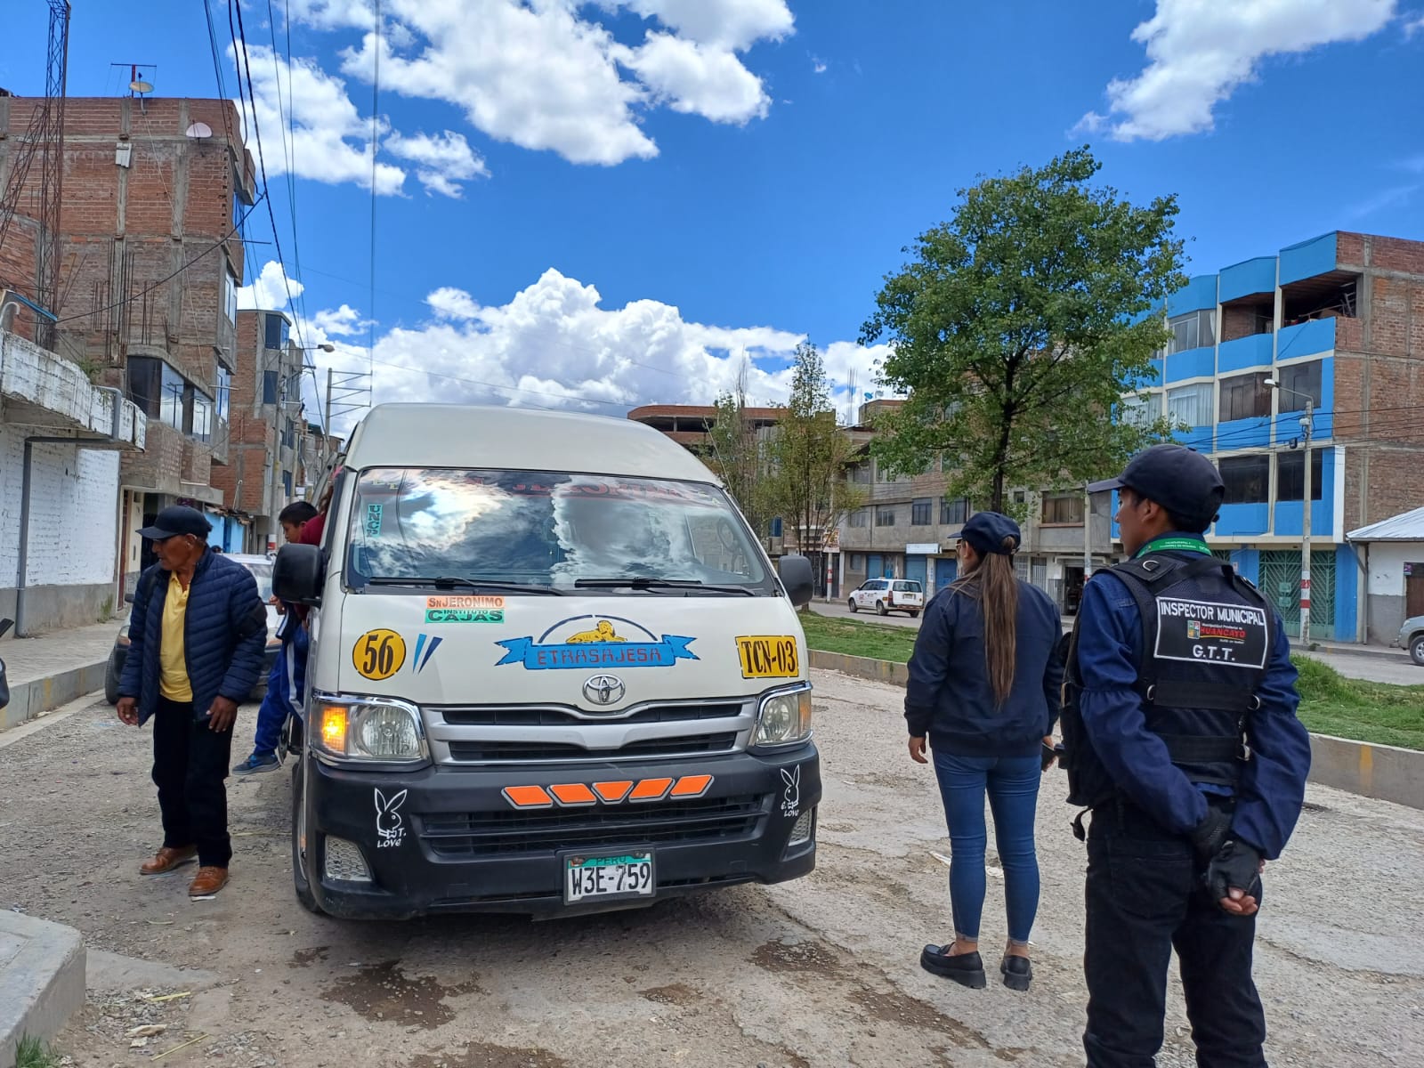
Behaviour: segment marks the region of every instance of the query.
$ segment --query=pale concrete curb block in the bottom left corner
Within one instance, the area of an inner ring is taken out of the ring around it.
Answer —
[[[73,927],[0,913],[0,1064],[24,1037],[44,1042],[84,1008],[84,940]]]

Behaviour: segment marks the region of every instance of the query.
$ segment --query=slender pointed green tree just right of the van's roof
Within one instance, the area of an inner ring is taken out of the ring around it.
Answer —
[[[830,380],[815,345],[796,346],[790,397],[768,451],[773,514],[795,527],[800,551],[820,551],[836,524],[864,501],[846,480],[854,447],[836,426]]]

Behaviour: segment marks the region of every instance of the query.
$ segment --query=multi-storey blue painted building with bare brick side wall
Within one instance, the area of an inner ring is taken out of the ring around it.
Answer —
[[[1218,463],[1208,541],[1293,634],[1309,507],[1312,637],[1364,641],[1366,557],[1346,531],[1424,504],[1424,244],[1326,234],[1192,278],[1163,315],[1172,339],[1121,417],[1166,417]]]

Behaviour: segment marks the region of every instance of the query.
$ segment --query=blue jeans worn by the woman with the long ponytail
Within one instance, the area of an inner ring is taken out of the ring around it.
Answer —
[[[1038,854],[1034,817],[1038,812],[1038,756],[956,756],[934,753],[934,773],[950,827],[950,904],[954,930],[978,938],[984,914],[984,793],[994,810],[994,843],[1004,866],[1008,937],[1027,943],[1038,913]]]

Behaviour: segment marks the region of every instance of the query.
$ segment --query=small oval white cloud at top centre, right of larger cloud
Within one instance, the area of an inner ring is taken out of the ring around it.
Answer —
[[[674,111],[698,114],[713,122],[763,118],[772,104],[762,80],[736,56],[715,46],[649,33],[641,47],[624,53],[622,61],[655,100],[666,100]]]

